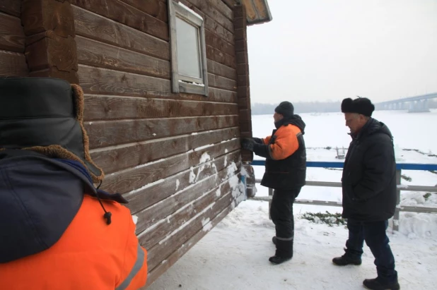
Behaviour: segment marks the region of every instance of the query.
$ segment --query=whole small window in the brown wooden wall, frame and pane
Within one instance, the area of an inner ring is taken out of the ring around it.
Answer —
[[[204,20],[182,3],[169,0],[173,92],[208,95]]]

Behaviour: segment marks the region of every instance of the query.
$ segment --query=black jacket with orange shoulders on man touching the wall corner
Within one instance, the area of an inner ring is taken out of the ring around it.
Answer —
[[[266,158],[261,185],[278,190],[301,188],[306,178],[305,123],[293,115],[275,126],[271,136],[255,138],[253,152]]]

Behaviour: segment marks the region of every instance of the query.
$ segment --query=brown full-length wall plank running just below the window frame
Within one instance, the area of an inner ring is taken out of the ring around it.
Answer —
[[[144,97],[85,96],[86,121],[217,115],[238,115],[238,105]]]

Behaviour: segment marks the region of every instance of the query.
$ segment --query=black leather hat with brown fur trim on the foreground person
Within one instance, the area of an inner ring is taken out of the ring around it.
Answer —
[[[91,160],[83,107],[81,87],[66,80],[0,78],[0,150],[74,160],[99,183],[104,173]]]

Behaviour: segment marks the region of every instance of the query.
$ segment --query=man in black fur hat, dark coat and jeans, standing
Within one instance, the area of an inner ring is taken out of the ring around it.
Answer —
[[[375,257],[376,279],[365,279],[373,290],[397,290],[395,258],[385,230],[396,207],[396,162],[392,134],[373,119],[370,99],[344,99],[342,112],[351,130],[352,142],[344,160],[342,176],[343,217],[349,238],[346,253],[332,259],[334,265],[361,265],[363,243]]]

